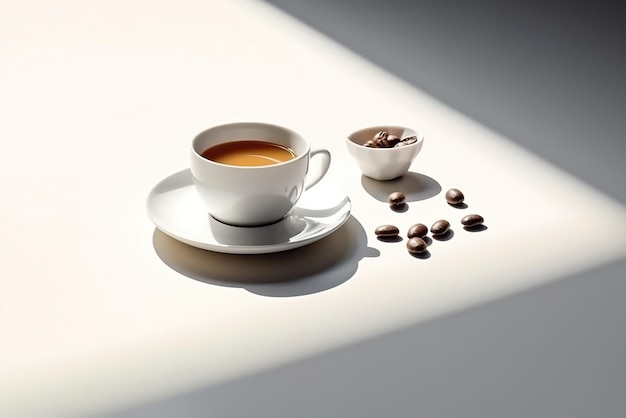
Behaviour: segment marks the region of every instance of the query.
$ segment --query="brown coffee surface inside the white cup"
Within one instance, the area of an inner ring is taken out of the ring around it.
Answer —
[[[266,141],[232,141],[214,145],[201,154],[220,164],[244,167],[273,165],[296,157],[290,148]]]

